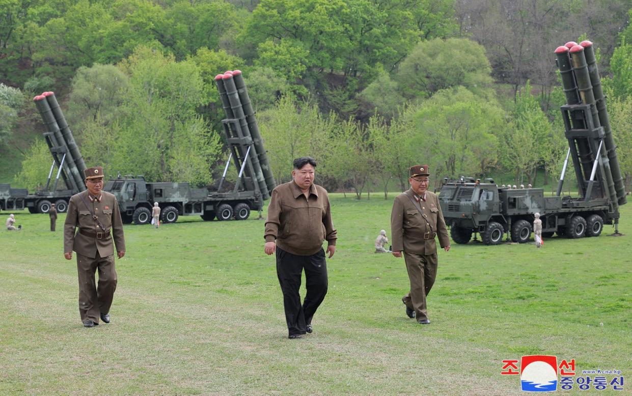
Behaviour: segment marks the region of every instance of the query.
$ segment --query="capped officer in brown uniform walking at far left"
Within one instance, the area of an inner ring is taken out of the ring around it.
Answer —
[[[84,327],[100,320],[110,322],[110,306],[116,290],[114,244],[118,258],[125,256],[123,222],[116,198],[103,188],[103,169],[85,169],[87,191],[73,195],[64,224],[64,257],[77,253],[79,313]],[[75,228],[79,231],[75,234]],[[99,285],[94,273],[99,270]]]

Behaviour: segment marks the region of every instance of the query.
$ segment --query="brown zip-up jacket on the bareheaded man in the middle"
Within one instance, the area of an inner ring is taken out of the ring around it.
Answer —
[[[327,190],[310,186],[309,198],[294,183],[272,190],[265,221],[265,241],[297,256],[310,256],[322,249],[322,243],[336,244],[336,229],[331,220]]]

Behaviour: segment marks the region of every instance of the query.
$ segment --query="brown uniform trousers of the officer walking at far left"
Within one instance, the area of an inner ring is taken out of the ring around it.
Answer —
[[[99,270],[99,284],[95,284],[94,273]],[[99,323],[100,313],[109,313],[116,290],[116,268],[114,255],[91,258],[77,253],[77,273],[79,275],[79,314],[85,323],[92,320]]]

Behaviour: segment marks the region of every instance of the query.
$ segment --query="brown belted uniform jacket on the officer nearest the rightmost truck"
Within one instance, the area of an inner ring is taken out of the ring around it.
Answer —
[[[444,248],[450,244],[446,222],[439,206],[437,195],[426,191],[426,200],[419,200],[422,213],[411,202],[416,194],[412,189],[396,196],[391,212],[392,251],[406,251],[417,255],[437,253],[437,244],[432,229],[439,236],[439,244]],[[422,216],[425,214],[425,218]],[[432,225],[432,227],[430,227]]]

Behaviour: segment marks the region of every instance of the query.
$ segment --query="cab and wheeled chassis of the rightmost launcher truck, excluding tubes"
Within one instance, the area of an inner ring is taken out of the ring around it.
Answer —
[[[532,233],[534,214],[540,213],[542,235],[570,238],[599,236],[604,224],[619,219],[612,203],[569,196],[544,196],[541,188],[499,188],[461,177],[444,183],[439,204],[454,242],[466,244],[478,232],[485,244],[499,244],[505,232],[511,241],[526,243]]]

